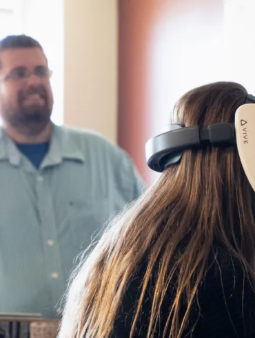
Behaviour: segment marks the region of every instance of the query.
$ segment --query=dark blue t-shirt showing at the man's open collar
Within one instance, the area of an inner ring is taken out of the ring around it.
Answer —
[[[39,169],[41,162],[49,150],[49,142],[45,143],[16,143],[18,149]]]

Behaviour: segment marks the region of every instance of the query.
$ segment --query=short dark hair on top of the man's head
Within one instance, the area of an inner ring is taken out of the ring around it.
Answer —
[[[43,47],[41,46],[41,44],[37,40],[25,34],[8,35],[7,37],[0,40],[0,53],[3,52],[4,50],[18,49],[18,48],[41,48],[43,52]],[[1,67],[1,60],[0,60],[0,67]]]

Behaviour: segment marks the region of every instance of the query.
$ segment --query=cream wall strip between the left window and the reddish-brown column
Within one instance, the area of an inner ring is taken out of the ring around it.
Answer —
[[[112,141],[117,134],[117,17],[117,0],[65,0],[65,123],[93,128]]]

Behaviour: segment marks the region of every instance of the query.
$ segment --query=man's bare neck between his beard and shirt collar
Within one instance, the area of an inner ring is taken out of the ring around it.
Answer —
[[[52,123],[49,122],[43,130],[38,133],[29,133],[24,132],[23,130],[17,130],[12,128],[12,126],[4,125],[3,126],[6,134],[10,139],[17,143],[44,143],[50,141],[50,136],[52,133]]]

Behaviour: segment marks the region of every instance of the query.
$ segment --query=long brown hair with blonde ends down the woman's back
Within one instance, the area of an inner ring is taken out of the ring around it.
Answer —
[[[211,83],[187,92],[176,103],[172,123],[205,128],[234,122],[247,92],[238,83]],[[154,337],[167,288],[178,270],[176,293],[164,335],[180,338],[189,323],[210,252],[225,248],[241,262],[254,286],[255,226],[252,188],[236,146],[187,150],[145,194],[116,217],[70,286],[59,338],[107,338],[128,281],[147,257],[147,269],[130,337],[141,312],[152,270],[159,266],[147,338]],[[99,210],[100,212],[100,210]],[[176,259],[176,250],[187,239]],[[170,265],[170,261],[174,264]],[[179,317],[185,297],[184,317]],[[168,332],[168,333],[167,333]],[[169,333],[170,332],[170,333]]]

